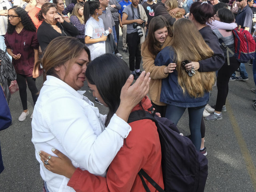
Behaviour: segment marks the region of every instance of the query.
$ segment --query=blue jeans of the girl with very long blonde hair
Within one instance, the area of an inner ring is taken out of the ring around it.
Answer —
[[[193,107],[189,107],[189,129],[191,133],[191,140],[197,151],[200,150],[201,146],[201,120],[203,116],[203,110],[205,107],[201,109],[195,109]],[[177,125],[179,119],[183,115],[186,107],[177,107],[174,105],[167,105],[165,117]]]

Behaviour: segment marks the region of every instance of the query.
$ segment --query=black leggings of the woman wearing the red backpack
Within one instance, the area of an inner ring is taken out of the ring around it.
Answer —
[[[221,111],[223,105],[226,103],[227,94],[229,93],[229,78],[238,69],[240,63],[235,57],[229,58],[230,65],[227,65],[227,58],[225,59],[224,65],[218,71],[217,75],[217,100],[215,105],[216,111]]]

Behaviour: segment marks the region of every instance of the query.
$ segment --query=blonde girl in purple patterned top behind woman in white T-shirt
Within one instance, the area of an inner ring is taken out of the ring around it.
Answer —
[[[70,17],[71,23],[78,29],[79,34],[76,38],[85,43],[85,21],[83,18],[83,4],[76,3]]]

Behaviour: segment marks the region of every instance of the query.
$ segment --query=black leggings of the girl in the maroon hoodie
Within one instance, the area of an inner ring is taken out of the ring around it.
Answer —
[[[26,84],[26,80],[27,80],[27,84]],[[32,77],[27,77],[25,75],[21,75],[17,73],[16,81],[19,86],[19,96],[21,97],[23,110],[27,110],[27,86],[31,91],[32,99],[35,106],[35,102],[37,102],[37,98],[38,98],[38,95],[37,95],[38,90],[35,85],[35,79]]]

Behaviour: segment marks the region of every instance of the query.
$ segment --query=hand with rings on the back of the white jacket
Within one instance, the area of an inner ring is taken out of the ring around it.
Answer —
[[[41,161],[43,162],[43,165],[45,168],[53,173],[64,175],[67,178],[71,178],[73,173],[75,172],[76,168],[72,165],[70,159],[58,151],[57,149],[52,149],[52,152],[56,154],[58,157],[51,156],[50,154],[39,151],[39,155],[41,157]],[[48,157],[51,156],[49,159]],[[44,161],[47,161],[49,165],[46,165]]]

